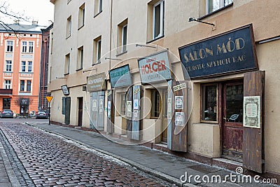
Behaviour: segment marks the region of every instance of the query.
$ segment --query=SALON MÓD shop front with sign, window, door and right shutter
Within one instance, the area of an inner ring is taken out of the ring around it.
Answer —
[[[200,112],[189,120],[189,150],[263,172],[265,72],[258,69],[252,25],[190,43],[179,55],[197,92],[193,112]]]

